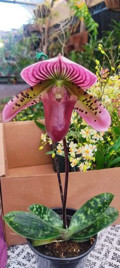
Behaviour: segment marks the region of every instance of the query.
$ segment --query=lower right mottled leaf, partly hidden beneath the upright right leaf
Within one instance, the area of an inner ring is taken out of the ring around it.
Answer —
[[[69,238],[84,239],[92,237],[96,235],[98,232],[100,232],[102,229],[111,225],[114,222],[114,220],[116,220],[117,217],[118,217],[118,211],[113,207],[109,207],[103,213],[103,215],[96,222],[94,222],[94,224],[83,229],[81,232],[73,234],[72,237]]]

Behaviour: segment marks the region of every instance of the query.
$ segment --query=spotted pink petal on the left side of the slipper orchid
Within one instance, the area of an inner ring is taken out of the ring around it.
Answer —
[[[41,101],[41,96],[43,92],[49,90],[50,83],[52,82],[53,81],[47,80],[35,86],[31,86],[27,88],[25,91],[20,92],[8,103],[6,103],[2,114],[3,122],[10,121],[22,109],[39,103]]]

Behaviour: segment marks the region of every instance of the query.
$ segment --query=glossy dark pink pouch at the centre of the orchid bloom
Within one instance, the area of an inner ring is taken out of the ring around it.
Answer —
[[[67,135],[77,97],[71,95],[69,98],[65,88],[62,88],[65,92],[62,101],[58,102],[54,99],[54,90],[55,88],[49,94],[46,93],[43,95],[42,101],[45,111],[46,131],[53,142],[58,142],[63,140]]]

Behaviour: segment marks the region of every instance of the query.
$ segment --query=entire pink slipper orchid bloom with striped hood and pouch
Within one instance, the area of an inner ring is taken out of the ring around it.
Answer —
[[[65,138],[73,108],[96,130],[108,130],[111,123],[108,111],[85,91],[96,83],[97,76],[83,66],[59,54],[27,66],[21,77],[31,86],[6,104],[3,122],[10,121],[25,107],[42,101],[46,131],[54,142]]]

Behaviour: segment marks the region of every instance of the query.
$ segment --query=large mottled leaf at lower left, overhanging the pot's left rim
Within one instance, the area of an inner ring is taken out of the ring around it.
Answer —
[[[4,219],[13,231],[27,238],[47,240],[59,237],[59,233],[57,233],[53,227],[43,224],[43,222],[31,212],[12,211],[7,213]]]

